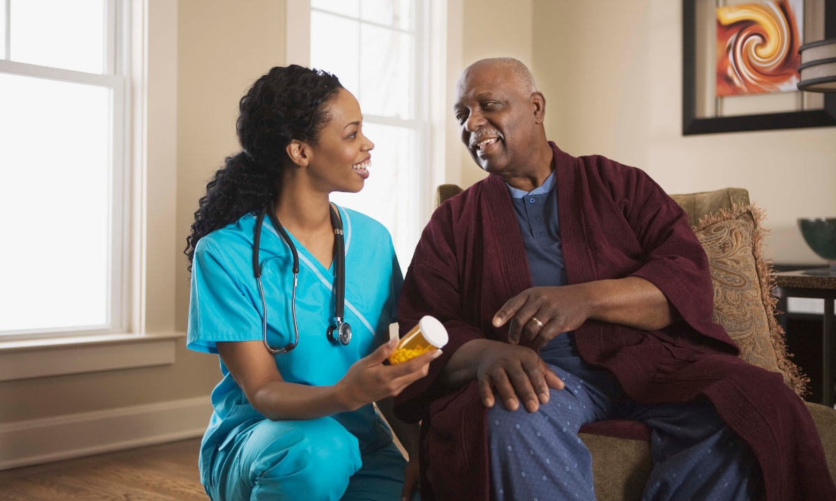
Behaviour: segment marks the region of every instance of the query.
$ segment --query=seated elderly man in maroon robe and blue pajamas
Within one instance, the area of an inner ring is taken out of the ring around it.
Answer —
[[[803,402],[712,323],[685,213],[641,170],[549,143],[545,109],[516,59],[456,86],[490,175],[436,210],[400,299],[401,331],[450,333],[395,407],[423,419],[423,498],[594,499],[579,428],[621,419],[652,429],[644,499],[836,499]]]

